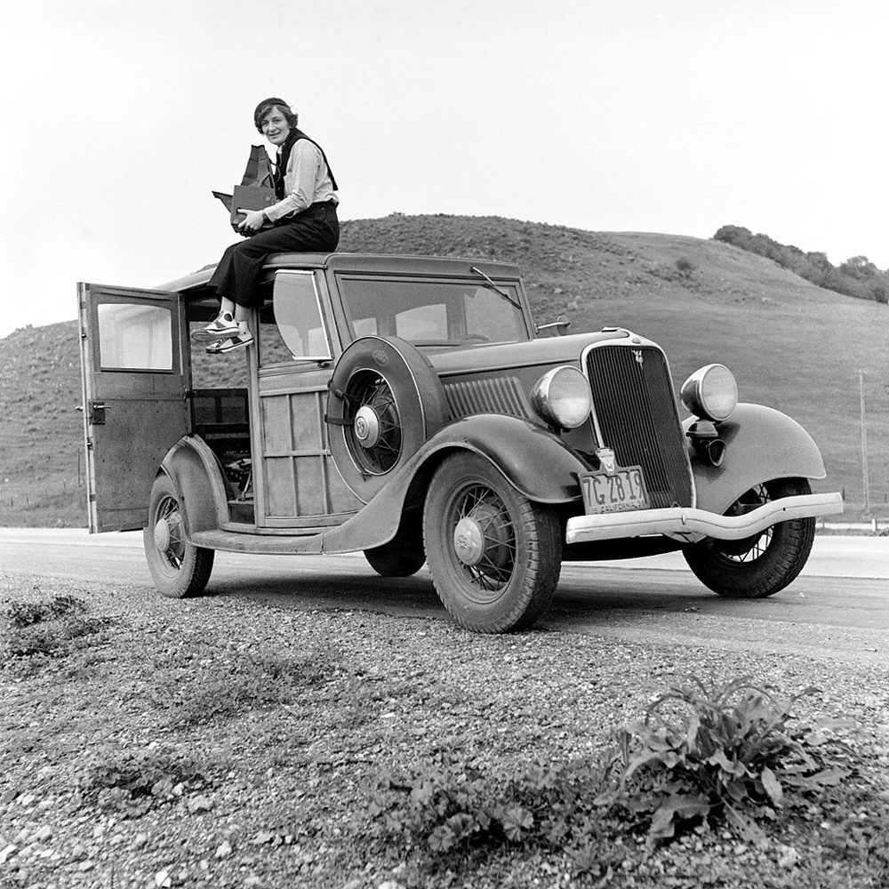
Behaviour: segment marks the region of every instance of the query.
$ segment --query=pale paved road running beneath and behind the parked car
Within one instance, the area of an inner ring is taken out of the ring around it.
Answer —
[[[0,573],[151,587],[140,533],[0,528]],[[220,553],[216,595],[274,599],[295,609],[339,607],[445,619],[426,569],[383,579],[359,556]],[[154,595],[147,590],[147,595]],[[777,596],[721,599],[678,554],[567,563],[542,629],[710,649],[808,653],[889,664],[889,540],[818,535],[804,572]]]

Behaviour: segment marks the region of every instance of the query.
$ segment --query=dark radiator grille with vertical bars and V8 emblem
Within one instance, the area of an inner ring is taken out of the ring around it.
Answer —
[[[661,351],[599,346],[587,367],[603,444],[621,466],[642,467],[653,508],[691,506],[685,436]]]

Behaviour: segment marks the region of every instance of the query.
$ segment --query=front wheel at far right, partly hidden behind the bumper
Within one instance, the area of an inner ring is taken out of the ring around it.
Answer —
[[[741,515],[767,501],[810,494],[805,478],[779,478],[757,485],[735,501],[726,515]],[[773,596],[805,565],[815,537],[814,518],[793,518],[742,541],[708,540],[685,547],[688,566],[717,595],[732,599]]]

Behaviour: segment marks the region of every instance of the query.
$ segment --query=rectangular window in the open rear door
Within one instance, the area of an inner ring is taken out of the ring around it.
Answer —
[[[144,303],[100,303],[99,362],[103,371],[172,372],[172,312]]]

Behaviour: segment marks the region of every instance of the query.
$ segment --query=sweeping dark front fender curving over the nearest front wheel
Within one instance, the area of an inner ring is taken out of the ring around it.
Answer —
[[[577,474],[590,469],[558,436],[527,420],[502,414],[464,417],[430,436],[364,509],[324,532],[324,552],[382,546],[396,536],[403,515],[419,521],[418,504],[435,470],[458,449],[485,457],[519,493],[538,503],[580,500]]]

